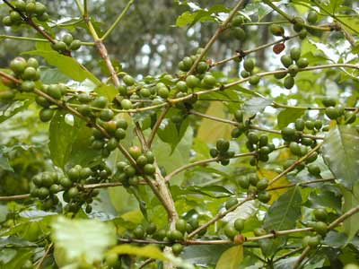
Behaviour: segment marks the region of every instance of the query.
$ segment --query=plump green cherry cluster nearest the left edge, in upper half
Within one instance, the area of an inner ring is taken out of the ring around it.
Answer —
[[[35,82],[39,80],[39,62],[35,58],[29,58],[27,61],[22,57],[15,57],[10,62],[10,70],[13,77],[21,80],[16,84],[9,80],[4,80],[6,86],[17,89],[18,91],[33,91]]]

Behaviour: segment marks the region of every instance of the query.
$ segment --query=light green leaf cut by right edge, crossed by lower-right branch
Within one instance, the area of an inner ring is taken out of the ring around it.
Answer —
[[[345,187],[342,187],[342,194],[344,199],[343,204],[343,213],[351,210],[353,207],[359,205],[359,184],[356,183],[355,187],[353,187],[353,192],[348,191]],[[354,214],[350,218],[347,218],[343,222],[344,231],[347,235],[346,243],[349,243],[352,239],[354,239],[356,232],[359,230],[359,214]]]

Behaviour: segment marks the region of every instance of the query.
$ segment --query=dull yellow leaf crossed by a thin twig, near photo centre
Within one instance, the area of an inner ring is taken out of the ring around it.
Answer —
[[[206,111],[206,115],[225,118],[222,102],[212,102]],[[229,124],[204,118],[198,129],[197,138],[206,143],[215,143],[219,138],[231,138],[232,127]]]

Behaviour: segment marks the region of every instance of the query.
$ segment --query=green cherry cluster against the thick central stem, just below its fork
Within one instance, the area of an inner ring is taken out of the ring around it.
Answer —
[[[152,177],[155,172],[153,152],[142,152],[137,146],[130,147],[128,152],[136,161],[136,166],[127,161],[119,161],[117,163],[118,171],[114,178],[124,187],[136,186],[144,179],[143,176]]]

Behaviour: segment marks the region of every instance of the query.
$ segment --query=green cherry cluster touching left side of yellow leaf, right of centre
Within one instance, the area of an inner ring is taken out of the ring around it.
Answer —
[[[271,199],[271,195],[266,191],[268,187],[267,178],[258,178],[257,174],[253,173],[237,178],[237,184],[247,190],[248,194],[257,195],[257,199],[264,204],[267,204]]]

